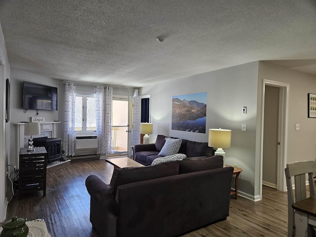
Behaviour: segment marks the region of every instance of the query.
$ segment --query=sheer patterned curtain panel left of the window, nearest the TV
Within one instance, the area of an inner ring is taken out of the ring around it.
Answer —
[[[75,101],[76,85],[74,83],[66,83],[63,141],[66,156],[75,155]]]

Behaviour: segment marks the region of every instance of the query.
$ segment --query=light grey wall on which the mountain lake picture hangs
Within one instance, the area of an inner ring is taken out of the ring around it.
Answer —
[[[238,164],[239,192],[253,198],[256,155],[256,114],[258,90],[258,62],[239,65],[183,79],[145,86],[140,95],[151,95],[151,122],[154,131],[151,142],[158,134],[207,142],[208,133],[171,130],[172,96],[207,92],[206,131],[209,128],[232,129],[232,146],[224,149],[227,164]],[[247,114],[242,115],[242,107]],[[247,131],[241,132],[241,124]]]

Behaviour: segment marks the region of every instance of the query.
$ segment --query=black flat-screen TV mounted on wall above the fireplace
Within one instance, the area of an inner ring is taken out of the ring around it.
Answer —
[[[57,87],[23,81],[23,109],[57,110]]]

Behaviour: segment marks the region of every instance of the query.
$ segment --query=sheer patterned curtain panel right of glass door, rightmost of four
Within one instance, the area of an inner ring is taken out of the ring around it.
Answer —
[[[140,99],[138,89],[133,95],[133,126],[132,126],[132,146],[140,144]]]

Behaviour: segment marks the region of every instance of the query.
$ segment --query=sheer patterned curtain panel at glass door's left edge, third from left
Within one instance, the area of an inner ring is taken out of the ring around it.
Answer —
[[[113,154],[112,146],[112,101],[113,87],[105,88],[105,139],[104,146],[107,154]]]

